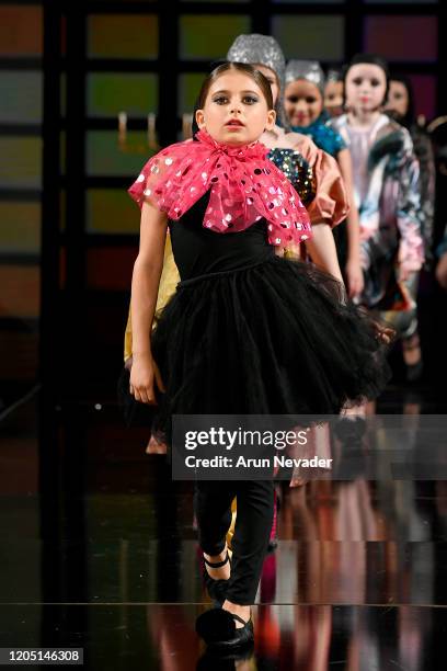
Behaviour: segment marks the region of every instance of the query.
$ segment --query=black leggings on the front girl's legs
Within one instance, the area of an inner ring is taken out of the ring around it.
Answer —
[[[225,548],[231,524],[231,502],[237,497],[227,599],[240,605],[251,605],[256,595],[273,523],[273,480],[196,481],[194,508],[198,539],[207,555],[218,555]]]

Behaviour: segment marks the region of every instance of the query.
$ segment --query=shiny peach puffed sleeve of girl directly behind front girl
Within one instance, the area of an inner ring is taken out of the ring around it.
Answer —
[[[308,207],[312,226],[329,224],[332,228],[341,224],[349,212],[346,187],[339,164],[332,156],[319,149],[306,136],[299,136],[297,150],[302,153],[313,170],[317,194]],[[301,140],[302,138],[302,140]]]

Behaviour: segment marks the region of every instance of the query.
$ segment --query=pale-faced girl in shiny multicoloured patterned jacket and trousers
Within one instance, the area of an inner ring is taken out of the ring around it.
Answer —
[[[381,113],[388,81],[381,58],[355,56],[345,72],[348,111],[333,124],[353,161],[365,275],[362,303],[387,312],[404,337],[414,316],[405,284],[411,285],[422,266],[424,244],[413,143],[405,128]]]

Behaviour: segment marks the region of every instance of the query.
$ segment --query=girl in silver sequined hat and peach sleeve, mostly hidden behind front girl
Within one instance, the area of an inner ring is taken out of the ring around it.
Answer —
[[[256,69],[266,76],[272,90],[274,106],[284,120],[280,91],[284,88],[286,61],[278,43],[267,35],[239,35],[231,45],[229,60],[255,64]],[[276,123],[266,129],[262,143],[268,147],[267,155],[288,178],[308,208],[310,221],[314,227],[312,239],[306,243],[312,261],[334,277],[342,278],[332,228],[343,221],[348,211],[345,186],[336,161],[319,149],[306,135],[286,133]],[[318,226],[317,226],[318,225]],[[297,250],[287,248],[287,255],[296,255]],[[163,272],[160,283],[157,311],[164,307],[180,280],[168,236]],[[133,334],[131,316],[127,321],[124,357],[126,366],[131,366]],[[151,440],[148,452],[162,452],[160,442]]]

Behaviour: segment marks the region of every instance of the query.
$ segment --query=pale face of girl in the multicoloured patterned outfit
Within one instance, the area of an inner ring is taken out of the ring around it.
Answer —
[[[379,66],[358,62],[348,69],[345,87],[351,110],[376,112],[383,104],[387,77]]]

